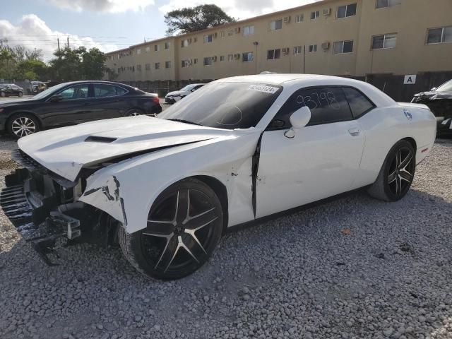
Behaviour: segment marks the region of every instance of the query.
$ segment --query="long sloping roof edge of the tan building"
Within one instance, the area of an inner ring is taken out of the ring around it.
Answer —
[[[117,53],[117,52],[126,51],[126,50],[129,50],[129,49],[135,48],[135,47],[144,46],[145,44],[153,44],[155,42],[160,42],[162,40],[176,39],[176,38],[179,38],[179,37],[186,37],[186,36],[189,36],[189,35],[199,34],[199,33],[202,33],[202,32],[208,32],[208,31],[211,31],[211,30],[218,30],[220,28],[227,28],[227,27],[230,27],[230,26],[233,26],[233,25],[246,23],[246,22],[249,22],[249,21],[252,21],[252,20],[258,20],[258,19],[261,19],[261,18],[268,18],[270,16],[277,16],[278,14],[288,13],[288,12],[291,12],[291,11],[296,11],[298,9],[309,8],[309,7],[312,7],[312,6],[319,6],[321,4],[327,4],[328,2],[333,2],[333,1],[337,1],[337,0],[311,0],[311,1],[314,1],[314,2],[311,2],[310,4],[302,5],[302,6],[297,6],[297,7],[283,9],[282,11],[277,11],[277,12],[263,14],[261,16],[254,16],[252,18],[246,18],[246,19],[234,21],[233,23],[224,23],[222,25],[206,28],[205,30],[196,30],[195,32],[189,32],[189,33],[184,33],[184,34],[179,34],[179,35],[171,35],[171,36],[167,36],[167,37],[160,37],[159,39],[156,39],[156,40],[150,40],[150,41],[147,41],[147,42],[141,42],[141,44],[132,44],[129,47],[126,47],[126,48],[123,48],[123,49],[117,49],[116,51],[107,52],[105,54],[109,55],[109,54],[113,54],[113,53]]]

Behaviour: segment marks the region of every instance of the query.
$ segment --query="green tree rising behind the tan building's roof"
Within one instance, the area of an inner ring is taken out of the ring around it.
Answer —
[[[225,11],[216,5],[181,8],[165,14],[167,35],[205,30],[234,21],[234,18],[228,16]]]

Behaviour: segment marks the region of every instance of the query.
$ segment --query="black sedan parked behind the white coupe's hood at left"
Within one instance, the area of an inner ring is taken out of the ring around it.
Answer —
[[[157,94],[121,83],[76,81],[55,85],[30,100],[0,102],[0,131],[20,138],[50,127],[160,112]]]

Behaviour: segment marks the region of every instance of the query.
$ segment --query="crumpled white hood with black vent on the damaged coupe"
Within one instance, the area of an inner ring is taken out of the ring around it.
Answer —
[[[231,132],[138,116],[43,131],[20,138],[18,145],[40,165],[73,181],[82,167],[145,150],[229,136]]]

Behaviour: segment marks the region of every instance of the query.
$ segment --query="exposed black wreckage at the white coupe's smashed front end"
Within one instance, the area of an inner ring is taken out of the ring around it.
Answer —
[[[45,263],[56,265],[49,254],[58,258],[54,247],[59,238],[68,244],[114,242],[118,222],[80,200],[89,174],[81,173],[71,182],[45,169],[22,150],[13,150],[11,159],[23,168],[5,177],[0,206]],[[119,192],[112,194],[112,198],[119,196]]]

